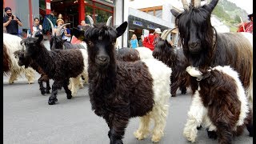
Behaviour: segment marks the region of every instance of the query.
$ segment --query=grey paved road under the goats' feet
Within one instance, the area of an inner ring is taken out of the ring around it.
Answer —
[[[37,77],[39,75],[37,74]],[[3,76],[3,143],[43,144],[107,144],[108,127],[90,108],[88,86],[78,91],[76,97],[68,100],[64,90],[58,92],[58,104],[48,105],[49,95],[42,96],[38,83],[27,84],[25,77],[9,85]],[[52,84],[52,81],[51,81]],[[170,98],[165,136],[161,144],[190,144],[182,136],[186,112],[191,102],[190,93]],[[130,119],[123,142],[126,144],[152,143],[150,138],[138,141],[134,131],[138,129],[138,118]],[[234,144],[253,143],[245,130],[242,136],[234,138]],[[198,131],[199,144],[216,144],[208,139],[205,129]]]

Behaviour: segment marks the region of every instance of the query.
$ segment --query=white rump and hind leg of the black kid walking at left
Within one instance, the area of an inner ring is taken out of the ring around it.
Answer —
[[[87,50],[86,49],[79,49],[79,50],[81,50],[81,53],[82,53],[84,67],[83,67],[82,74],[79,74],[76,78],[70,78],[70,84],[69,84],[68,87],[71,91],[72,96],[75,96],[78,92],[78,89],[83,87],[83,82],[82,82],[81,76],[83,76],[83,78],[85,78],[85,82],[88,81],[88,71],[87,71],[87,69],[88,69],[88,54],[87,54]]]

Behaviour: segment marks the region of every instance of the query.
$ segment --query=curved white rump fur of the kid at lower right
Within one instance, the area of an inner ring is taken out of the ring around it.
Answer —
[[[240,111],[237,126],[241,126],[244,123],[244,119],[247,117],[247,114],[249,112],[249,107],[248,107],[248,100],[246,98],[245,90],[242,86],[242,82],[239,79],[238,73],[235,70],[233,70],[230,66],[216,66],[213,68],[213,70],[218,70],[224,74],[229,75],[231,78],[234,79],[236,86],[238,86],[237,94],[238,94],[238,99],[241,102],[241,111]]]

